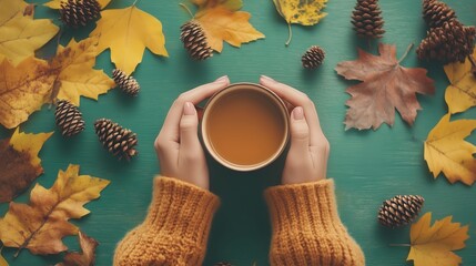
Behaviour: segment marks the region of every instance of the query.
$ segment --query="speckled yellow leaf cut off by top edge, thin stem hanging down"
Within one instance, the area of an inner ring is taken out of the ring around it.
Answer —
[[[322,12],[327,0],[273,0],[277,12],[283,17],[290,29],[290,38],[286,45],[292,39],[291,23],[302,25],[313,25],[318,23],[327,13]]]

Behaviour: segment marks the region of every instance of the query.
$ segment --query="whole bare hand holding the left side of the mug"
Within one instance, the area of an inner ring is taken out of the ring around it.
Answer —
[[[172,104],[155,139],[161,174],[209,190],[209,168],[200,144],[195,104],[227,86],[226,75],[182,93]]]

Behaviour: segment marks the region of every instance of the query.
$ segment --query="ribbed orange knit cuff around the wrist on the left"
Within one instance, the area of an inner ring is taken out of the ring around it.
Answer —
[[[193,184],[158,176],[145,224],[160,232],[206,243],[213,215],[220,200],[213,193]]]

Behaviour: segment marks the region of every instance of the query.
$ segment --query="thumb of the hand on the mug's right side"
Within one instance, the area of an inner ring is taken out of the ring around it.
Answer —
[[[304,116],[303,108],[297,106],[291,113],[291,147],[290,155],[302,157],[310,153],[310,127]]]

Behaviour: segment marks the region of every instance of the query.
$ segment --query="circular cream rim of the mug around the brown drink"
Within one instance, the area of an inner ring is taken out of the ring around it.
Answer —
[[[226,95],[227,93],[234,91],[234,90],[239,90],[240,86],[245,86],[247,90],[254,90],[254,91],[260,91],[261,93],[269,95],[270,99],[272,99],[272,102],[275,103],[275,105],[280,109],[282,116],[284,116],[284,137],[278,146],[278,149],[276,149],[276,151],[266,160],[256,163],[256,164],[236,164],[236,163],[232,163],[225,158],[223,158],[220,154],[217,154],[217,152],[213,149],[213,145],[211,144],[209,136],[207,136],[207,130],[206,130],[206,121],[207,121],[207,116],[209,116],[209,110],[210,110],[210,105],[214,104],[216,102],[216,99],[220,99],[221,95]],[[236,89],[237,88],[237,89]],[[237,83],[233,83],[230,84],[223,89],[221,89],[220,91],[215,92],[207,101],[206,104],[203,109],[203,116],[202,116],[202,121],[201,121],[201,133],[202,133],[202,141],[203,144],[205,146],[205,150],[207,151],[207,153],[220,164],[222,164],[223,166],[231,168],[231,170],[235,170],[235,171],[240,171],[240,172],[250,172],[250,171],[254,171],[254,170],[259,170],[262,168],[269,164],[271,164],[272,162],[274,162],[286,149],[288,139],[290,139],[290,117],[288,117],[288,110],[286,108],[286,104],[284,103],[284,101],[276,94],[274,93],[272,90],[267,89],[264,85],[257,84],[257,83],[252,83],[252,82],[237,82]]]

